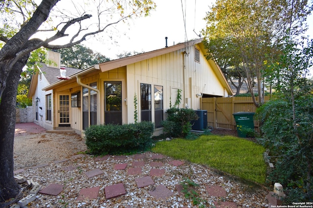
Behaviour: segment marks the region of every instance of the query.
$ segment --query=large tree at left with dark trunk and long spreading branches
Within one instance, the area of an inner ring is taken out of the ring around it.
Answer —
[[[98,5],[96,1],[75,1],[71,8],[76,11],[62,5],[68,1],[42,0],[39,5],[36,2],[0,1],[0,41],[4,42],[0,50],[0,203],[15,198],[20,190],[13,175],[15,107],[20,75],[30,53],[41,47],[72,47],[121,21],[149,15],[155,8],[152,0],[108,0],[99,1]],[[65,44],[55,42],[61,38]]]

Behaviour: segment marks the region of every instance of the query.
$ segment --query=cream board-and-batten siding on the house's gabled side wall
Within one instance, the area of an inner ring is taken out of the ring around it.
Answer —
[[[188,108],[194,110],[200,109],[200,97],[196,94],[225,95],[223,85],[201,50],[199,50],[200,61],[199,59],[195,61],[195,47],[198,48],[197,45],[191,45],[127,65],[129,123],[134,122],[134,95],[138,100],[137,111],[140,120],[140,83],[151,84],[152,91],[154,85],[163,86],[164,111],[170,108],[170,101],[174,105],[178,89],[182,91],[179,107],[184,108],[188,105]]]

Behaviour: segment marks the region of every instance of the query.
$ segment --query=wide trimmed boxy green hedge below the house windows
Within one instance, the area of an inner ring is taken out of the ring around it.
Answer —
[[[93,125],[85,130],[86,145],[92,154],[121,154],[144,151],[152,145],[154,124]]]

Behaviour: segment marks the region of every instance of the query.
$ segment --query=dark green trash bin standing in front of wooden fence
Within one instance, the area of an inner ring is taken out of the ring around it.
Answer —
[[[236,121],[238,136],[242,138],[246,138],[247,128],[252,129],[254,131],[254,123],[253,123],[254,113],[237,112],[237,113],[233,113],[233,115]]]

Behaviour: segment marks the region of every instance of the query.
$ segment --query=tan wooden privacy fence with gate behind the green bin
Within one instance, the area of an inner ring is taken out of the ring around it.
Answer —
[[[268,101],[269,96],[265,96],[264,100]],[[201,110],[207,111],[208,126],[236,130],[233,113],[255,113],[256,107],[251,97],[205,97],[201,98]],[[254,121],[254,127],[259,132],[257,121]]]

